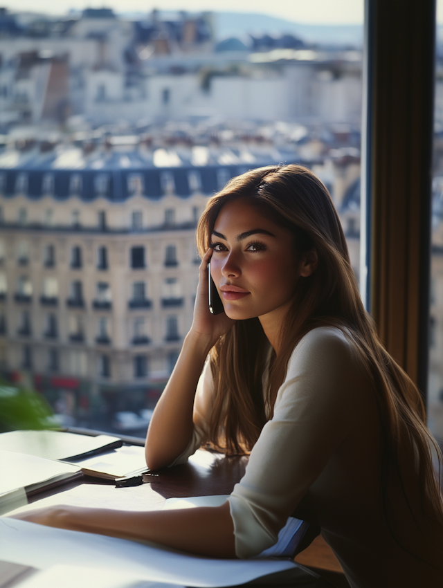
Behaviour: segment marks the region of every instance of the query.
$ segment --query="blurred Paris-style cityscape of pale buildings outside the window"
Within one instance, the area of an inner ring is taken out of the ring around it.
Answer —
[[[229,178],[313,169],[359,275],[361,44],[340,28],[327,44],[221,37],[216,23],[210,12],[0,9],[0,369],[42,392],[62,425],[145,432],[192,321],[195,226]],[[443,259],[443,237],[433,251]],[[435,415],[443,286],[441,300]]]

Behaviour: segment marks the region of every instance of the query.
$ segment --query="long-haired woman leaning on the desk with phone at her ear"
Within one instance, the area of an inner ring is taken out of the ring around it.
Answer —
[[[441,454],[415,385],[363,309],[325,186],[296,165],[247,172],[208,201],[197,242],[194,320],[150,424],[147,465],[181,463],[210,441],[251,452],[244,478],[217,508],[66,507],[28,520],[244,558],[293,513],[320,525],[352,587],[442,586]]]

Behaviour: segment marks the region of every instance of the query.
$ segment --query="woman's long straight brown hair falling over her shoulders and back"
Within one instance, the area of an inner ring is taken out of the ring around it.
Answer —
[[[278,226],[291,230],[296,251],[315,248],[318,266],[298,283],[280,333],[282,351],[278,356],[271,355],[265,398],[262,376],[269,342],[257,318],[237,320],[211,349],[215,385],[211,441],[228,454],[251,450],[266,415],[269,418],[273,414],[278,388],[284,381],[296,344],[314,327],[337,327],[353,343],[372,381],[383,443],[381,484],[386,490],[383,492],[386,515],[392,475],[403,488],[406,470],[416,463],[424,515],[441,527],[442,454],[426,428],[426,414],[417,387],[383,348],[372,318],[363,307],[345,235],[327,188],[309,169],[299,165],[261,167],[233,178],[209,199],[199,221],[200,255],[208,250],[221,208],[239,198],[248,199]],[[433,457],[437,457],[440,471],[437,475]]]

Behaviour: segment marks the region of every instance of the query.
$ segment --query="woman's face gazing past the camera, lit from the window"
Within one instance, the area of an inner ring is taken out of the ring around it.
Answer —
[[[211,275],[232,319],[281,320],[300,275],[293,235],[251,201],[239,199],[221,209],[211,236]]]

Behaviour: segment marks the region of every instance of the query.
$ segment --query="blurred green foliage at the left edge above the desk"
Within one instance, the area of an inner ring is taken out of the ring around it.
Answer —
[[[52,415],[40,394],[0,383],[0,432],[56,428]]]

